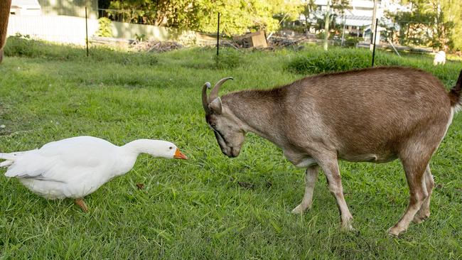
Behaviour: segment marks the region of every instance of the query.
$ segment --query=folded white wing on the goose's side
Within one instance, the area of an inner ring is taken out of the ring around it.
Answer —
[[[73,138],[47,143],[18,156],[5,175],[66,183],[77,175],[101,172],[114,165],[117,146],[100,140]]]

